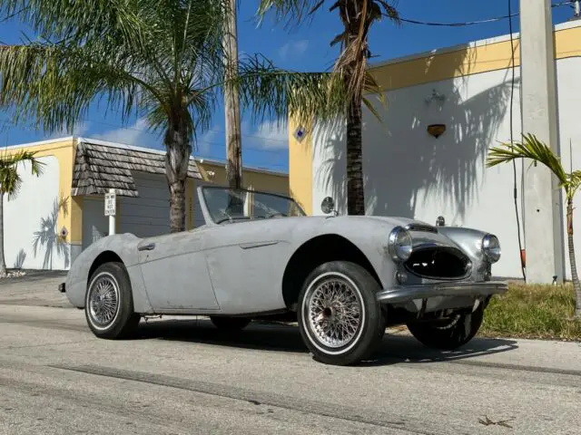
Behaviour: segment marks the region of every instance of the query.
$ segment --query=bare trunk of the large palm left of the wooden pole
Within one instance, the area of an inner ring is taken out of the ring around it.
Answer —
[[[192,145],[185,129],[170,128],[165,134],[165,173],[170,189],[170,231],[185,231],[185,192]]]

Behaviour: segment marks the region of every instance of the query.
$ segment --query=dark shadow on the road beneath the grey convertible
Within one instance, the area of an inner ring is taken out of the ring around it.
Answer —
[[[291,324],[254,322],[239,332],[215,328],[205,319],[155,320],[143,322],[136,338],[203,343],[267,352],[308,353],[299,328]],[[475,338],[455,351],[428,349],[412,336],[386,333],[372,359],[359,366],[399,363],[451,362],[517,349],[517,342],[507,339]]]

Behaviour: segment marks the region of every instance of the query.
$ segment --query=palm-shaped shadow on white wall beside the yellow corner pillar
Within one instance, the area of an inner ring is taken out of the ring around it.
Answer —
[[[70,263],[69,244],[64,242],[57,228],[59,211],[63,210],[64,216],[68,215],[67,208],[68,198],[54,198],[53,209],[46,218],[40,219],[40,227],[38,231],[34,231],[33,252],[34,257],[44,248],[43,268],[53,268],[54,253],[58,257],[64,258],[64,268],[68,268]]]

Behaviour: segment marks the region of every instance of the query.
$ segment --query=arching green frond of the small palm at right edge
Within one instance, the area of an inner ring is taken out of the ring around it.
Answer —
[[[567,182],[566,172],[561,161],[556,157],[553,150],[538,140],[533,134],[524,134],[524,140],[513,143],[503,143],[499,147],[494,147],[488,151],[487,167],[492,168],[500,163],[516,159],[530,159],[545,165],[550,169],[563,184]]]

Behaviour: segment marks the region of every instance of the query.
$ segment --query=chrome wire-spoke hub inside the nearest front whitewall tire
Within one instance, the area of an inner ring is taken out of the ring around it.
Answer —
[[[321,281],[310,295],[307,314],[310,330],[321,344],[343,347],[360,328],[359,293],[340,278]]]

